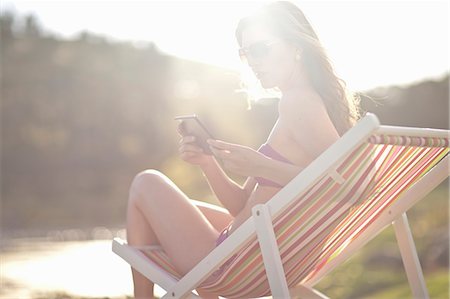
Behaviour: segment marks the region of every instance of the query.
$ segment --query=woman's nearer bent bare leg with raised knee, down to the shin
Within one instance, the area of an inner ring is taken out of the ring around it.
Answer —
[[[214,248],[218,235],[200,209],[161,173],[144,171],[133,180],[127,213],[129,244],[160,244],[185,274]],[[145,277],[133,271],[133,280],[137,298],[153,296],[153,284]]]

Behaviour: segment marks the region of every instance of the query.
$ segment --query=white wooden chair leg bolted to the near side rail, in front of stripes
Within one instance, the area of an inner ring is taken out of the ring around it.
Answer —
[[[266,205],[259,204],[253,207],[252,214],[272,297],[289,298],[289,288],[273,231],[270,211]]]

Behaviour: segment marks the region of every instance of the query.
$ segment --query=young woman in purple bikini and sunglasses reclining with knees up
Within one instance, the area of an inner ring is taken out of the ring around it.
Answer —
[[[161,245],[180,274],[232,234],[255,204],[269,200],[358,117],[356,101],[292,3],[274,2],[242,19],[236,37],[241,58],[262,87],[282,94],[279,117],[266,143],[254,150],[210,140],[215,157],[204,154],[193,136],[182,137],[179,145],[181,158],[201,168],[225,209],[189,199],[156,170],[139,173],[130,189],[129,244]],[[226,171],[247,177],[245,184],[232,181],[217,159]],[[136,297],[153,296],[151,282],[134,270],[133,279]]]

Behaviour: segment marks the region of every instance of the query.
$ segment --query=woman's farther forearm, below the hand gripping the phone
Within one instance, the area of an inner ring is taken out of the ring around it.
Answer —
[[[248,178],[244,186],[240,186],[227,176],[214,158],[210,163],[203,164],[200,167],[217,199],[232,216],[236,216],[244,208],[251,191],[256,185],[254,179]]]

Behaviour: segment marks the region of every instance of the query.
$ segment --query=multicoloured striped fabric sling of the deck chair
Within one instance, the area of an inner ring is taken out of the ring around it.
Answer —
[[[293,200],[273,220],[288,285],[313,278],[448,152],[449,138],[372,136],[336,168],[343,184],[324,176]],[[146,254],[180,277],[166,255]],[[270,295],[256,234],[201,287],[227,298]]]

